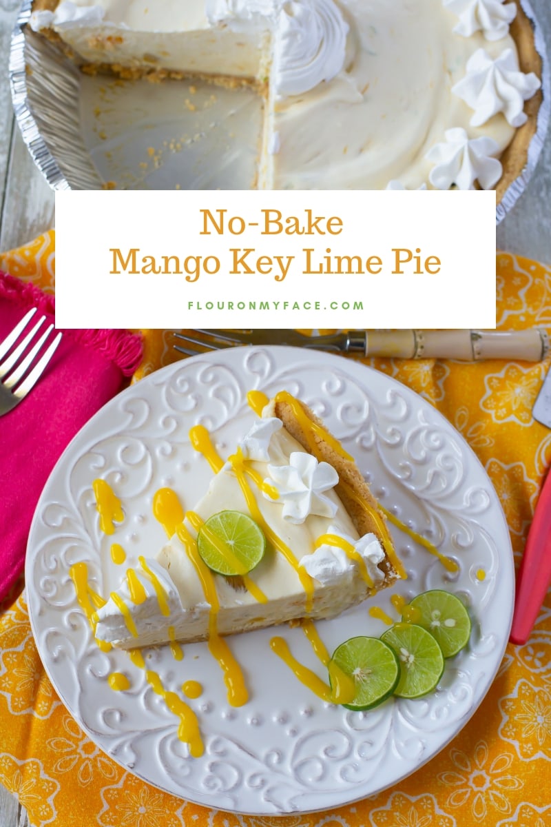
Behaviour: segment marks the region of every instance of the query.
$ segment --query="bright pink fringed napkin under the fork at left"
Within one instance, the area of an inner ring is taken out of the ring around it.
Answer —
[[[0,271],[0,341],[36,306],[54,321],[55,299]],[[0,600],[21,575],[40,492],[61,452],[121,388],[141,359],[123,330],[69,330],[31,393],[0,417]]]

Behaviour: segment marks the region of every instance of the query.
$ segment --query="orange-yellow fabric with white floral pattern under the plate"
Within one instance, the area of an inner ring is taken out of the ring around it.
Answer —
[[[54,237],[0,256],[0,267],[46,289]],[[551,332],[551,269],[497,256],[497,324]],[[173,361],[166,332],[144,331],[135,379]],[[546,363],[370,360],[434,404],[476,452],[496,487],[516,562],[551,462],[551,431],[532,405]],[[424,767],[354,805],[314,815],[254,818],[181,801],[99,750],[56,696],[40,663],[24,592],[0,614],[0,782],[32,825],[56,827],[546,827],[551,825],[551,598],[530,642],[508,645],[473,718]],[[361,790],[358,790],[361,796]]]

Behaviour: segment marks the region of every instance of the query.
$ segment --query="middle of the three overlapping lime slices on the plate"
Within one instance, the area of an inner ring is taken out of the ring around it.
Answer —
[[[419,698],[432,691],[444,672],[444,655],[435,638],[415,624],[397,623],[381,635],[400,661],[400,680],[394,694]]]

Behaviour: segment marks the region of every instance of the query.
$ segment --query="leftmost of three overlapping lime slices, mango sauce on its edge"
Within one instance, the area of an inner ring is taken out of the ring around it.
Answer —
[[[343,704],[348,710],[371,710],[382,704],[392,695],[400,679],[396,655],[379,638],[349,638],[335,649],[329,663],[331,687],[334,684],[331,672],[335,667],[354,680],[354,699]]]

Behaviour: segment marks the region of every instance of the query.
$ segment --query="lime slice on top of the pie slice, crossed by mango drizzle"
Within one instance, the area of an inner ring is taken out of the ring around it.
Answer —
[[[212,571],[245,575],[264,556],[266,538],[259,525],[240,511],[220,511],[197,534],[197,549]]]

